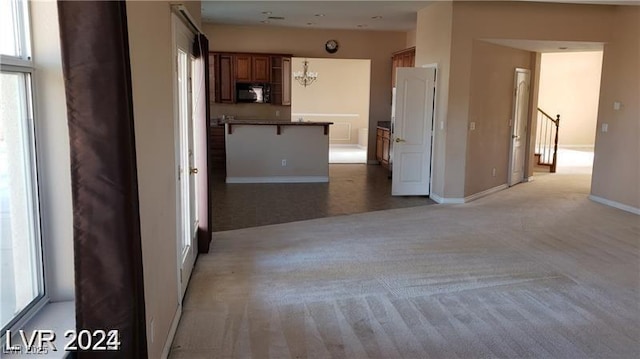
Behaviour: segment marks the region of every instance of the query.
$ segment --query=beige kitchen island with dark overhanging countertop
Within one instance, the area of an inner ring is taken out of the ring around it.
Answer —
[[[227,120],[227,183],[329,182],[332,122]]]

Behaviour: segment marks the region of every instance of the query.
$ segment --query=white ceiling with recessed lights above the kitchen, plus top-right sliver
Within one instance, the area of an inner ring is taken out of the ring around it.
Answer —
[[[435,0],[437,1],[437,0]],[[518,0],[606,5],[638,0]],[[202,21],[227,25],[408,31],[417,12],[434,1],[202,1]],[[269,19],[269,17],[274,17]],[[380,17],[380,18],[378,18]]]

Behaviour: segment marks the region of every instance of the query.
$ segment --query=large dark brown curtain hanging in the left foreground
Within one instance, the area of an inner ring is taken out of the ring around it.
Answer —
[[[73,194],[77,330],[120,331],[146,358],[144,286],[125,2],[59,1]]]

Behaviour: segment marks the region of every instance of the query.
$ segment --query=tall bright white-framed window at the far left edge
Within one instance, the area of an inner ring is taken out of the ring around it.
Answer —
[[[45,300],[28,4],[0,1],[0,326]]]

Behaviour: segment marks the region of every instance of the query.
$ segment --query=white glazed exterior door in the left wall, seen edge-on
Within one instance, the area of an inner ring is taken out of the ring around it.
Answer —
[[[175,55],[175,123],[178,217],[178,290],[181,297],[187,289],[196,258],[198,228],[196,204],[196,174],[193,85],[195,60],[192,55],[194,34],[176,15],[172,14]]]

